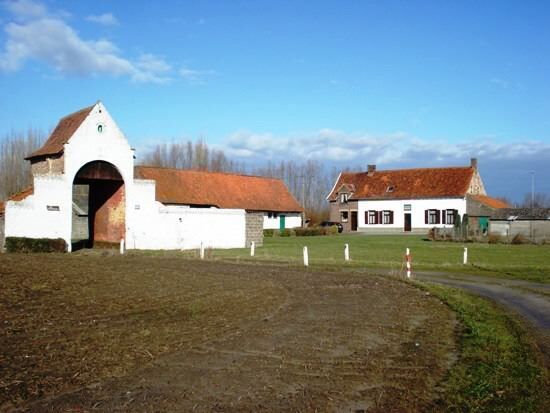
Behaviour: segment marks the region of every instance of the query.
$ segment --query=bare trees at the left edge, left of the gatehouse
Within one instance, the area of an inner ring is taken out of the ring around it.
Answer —
[[[0,200],[32,185],[30,163],[25,157],[44,142],[44,133],[29,129],[11,132],[0,139]]]

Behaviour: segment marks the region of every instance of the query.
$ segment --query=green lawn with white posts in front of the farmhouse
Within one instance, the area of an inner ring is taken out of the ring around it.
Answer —
[[[349,244],[351,261],[344,262]],[[267,260],[300,265],[302,249],[308,247],[311,266],[384,268],[400,271],[405,249],[410,248],[413,269],[520,278],[550,282],[550,245],[505,245],[428,241],[422,236],[334,235],[316,237],[269,237],[250,257],[249,249],[215,250],[215,258]],[[464,247],[468,264],[463,265]]]

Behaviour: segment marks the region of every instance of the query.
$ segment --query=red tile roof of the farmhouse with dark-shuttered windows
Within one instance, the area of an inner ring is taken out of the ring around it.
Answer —
[[[462,197],[474,172],[471,166],[343,172],[328,199],[336,200],[337,191],[346,184],[355,187],[352,200]]]

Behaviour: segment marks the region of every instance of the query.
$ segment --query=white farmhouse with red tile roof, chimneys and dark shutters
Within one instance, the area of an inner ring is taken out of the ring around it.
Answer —
[[[503,206],[486,195],[476,159],[467,167],[342,172],[327,200],[331,221],[369,233],[452,228],[459,215]],[[487,217],[476,220],[477,230],[487,231]]]

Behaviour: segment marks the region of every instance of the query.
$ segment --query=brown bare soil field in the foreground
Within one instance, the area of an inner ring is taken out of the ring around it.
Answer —
[[[421,411],[456,320],[405,283],[174,256],[0,255],[0,411]]]

